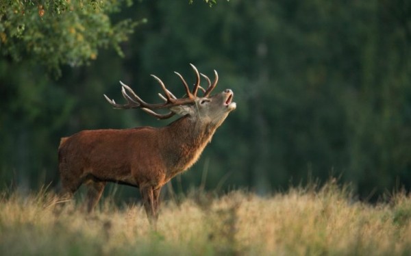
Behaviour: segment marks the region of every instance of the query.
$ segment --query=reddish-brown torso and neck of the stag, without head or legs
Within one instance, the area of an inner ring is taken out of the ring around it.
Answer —
[[[160,128],[80,131],[60,145],[61,168],[72,169],[62,178],[78,180],[71,185],[73,192],[88,178],[161,187],[195,164],[215,131],[193,133],[195,125],[182,117]]]

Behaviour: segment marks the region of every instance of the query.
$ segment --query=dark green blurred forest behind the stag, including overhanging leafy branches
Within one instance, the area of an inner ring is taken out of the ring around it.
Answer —
[[[411,188],[410,1],[2,1],[0,52],[1,188],[58,188],[61,137],[167,125],[103,94],[120,102],[121,80],[158,102],[150,74],[183,93],[189,63],[216,69],[237,109],[180,191]]]

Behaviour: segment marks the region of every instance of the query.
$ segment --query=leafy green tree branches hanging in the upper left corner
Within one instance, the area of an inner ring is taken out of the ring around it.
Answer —
[[[60,75],[60,66],[95,60],[101,47],[128,39],[137,25],[126,18],[113,24],[110,14],[131,1],[2,1],[0,53],[13,61],[43,64]]]

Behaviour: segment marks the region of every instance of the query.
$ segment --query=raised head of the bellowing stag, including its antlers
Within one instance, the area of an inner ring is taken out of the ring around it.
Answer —
[[[158,94],[164,103],[146,103],[138,97],[132,88],[123,84],[121,81],[120,84],[123,87],[121,93],[127,101],[127,104],[117,104],[114,100],[110,100],[105,94],[104,97],[116,109],[127,110],[140,108],[158,119],[171,118],[171,116],[178,114],[179,116],[188,116],[190,119],[197,120],[199,123],[212,123],[218,127],[221,123],[223,123],[223,120],[225,120],[229,112],[236,109],[236,103],[232,102],[234,93],[232,90],[226,89],[219,94],[210,96],[212,90],[214,90],[217,82],[219,81],[218,73],[214,70],[215,78],[214,81],[211,82],[206,75],[199,73],[194,65],[190,65],[195,71],[195,75],[197,77],[195,86],[191,91],[182,75],[175,72],[175,74],[181,79],[186,90],[186,97],[184,98],[177,99],[177,97],[175,97],[174,94],[171,93],[166,86],[164,86],[162,80],[155,75],[151,76],[158,81],[164,91],[165,97],[160,93]],[[200,75],[208,81],[207,89],[200,86]],[[203,97],[197,96],[197,92],[199,90],[203,92]],[[154,110],[160,109],[169,109],[169,113],[158,114],[157,112],[154,112]]]

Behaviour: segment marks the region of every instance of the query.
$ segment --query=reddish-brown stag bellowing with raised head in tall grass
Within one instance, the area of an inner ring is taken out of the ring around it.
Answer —
[[[181,79],[186,94],[177,98],[162,80],[151,75],[160,84],[163,103],[147,103],[126,84],[120,81],[125,104],[105,99],[118,110],[140,109],[159,120],[180,116],[165,127],[135,127],[131,129],[96,129],[79,131],[60,140],[58,162],[62,193],[71,198],[84,184],[87,187],[85,207],[87,212],[97,205],[106,183],[131,185],[140,190],[142,205],[149,223],[158,221],[160,191],[179,173],[188,170],[199,159],[229,112],[236,109],[234,93],[225,89],[210,95],[219,81],[214,70],[214,81],[192,67],[196,82],[192,90],[184,77]],[[200,75],[208,81],[204,89]],[[203,96],[197,96],[201,90]],[[160,114],[158,110],[168,113]]]

